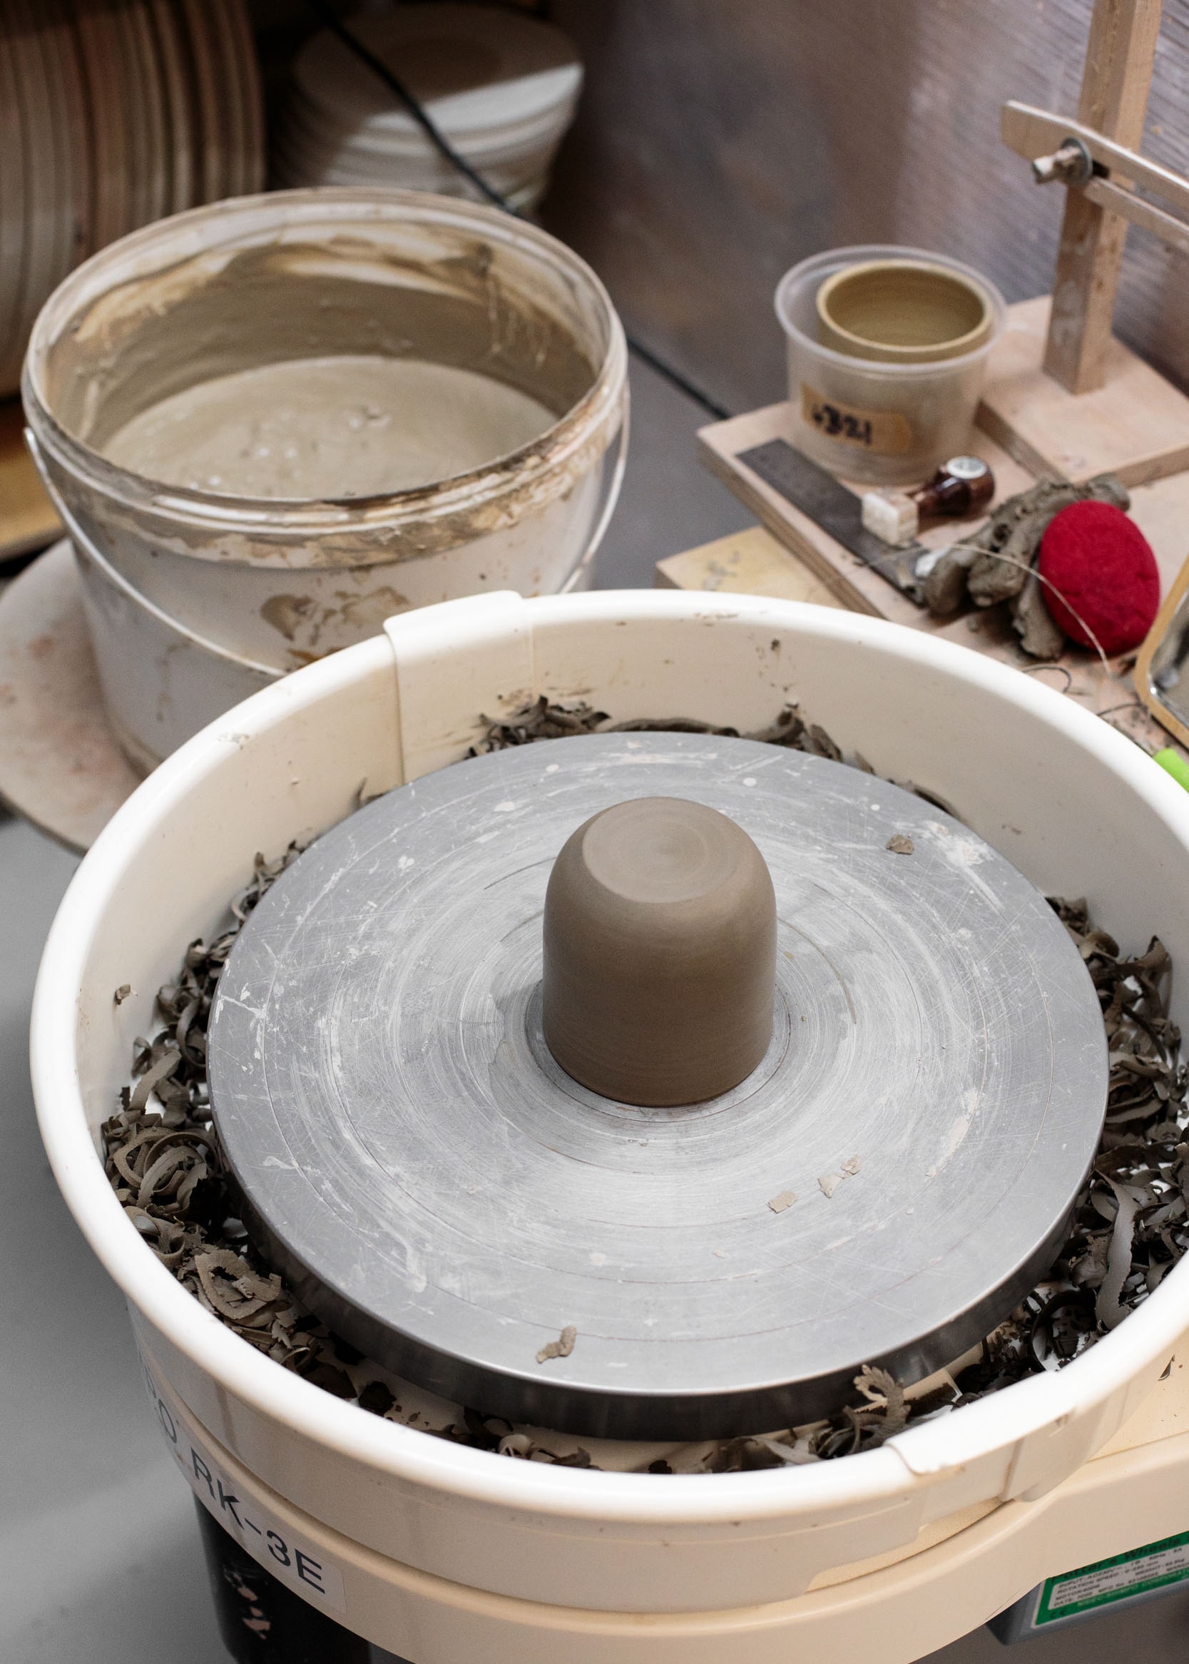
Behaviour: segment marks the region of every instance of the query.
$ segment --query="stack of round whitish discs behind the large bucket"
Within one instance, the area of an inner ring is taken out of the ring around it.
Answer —
[[[559,28],[454,3],[402,5],[349,25],[512,206],[532,208],[544,196],[582,88],[582,65]],[[392,185],[479,196],[329,30],[314,35],[293,67],[273,173],[281,186]]]

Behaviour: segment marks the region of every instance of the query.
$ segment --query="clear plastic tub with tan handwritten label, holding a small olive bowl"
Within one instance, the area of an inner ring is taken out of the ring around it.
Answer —
[[[821,283],[870,260],[920,260],[978,283],[993,310],[988,339],[973,353],[930,364],[886,364],[821,346]],[[792,441],[815,463],[843,479],[901,486],[926,479],[938,463],[969,448],[986,361],[1006,318],[1003,295],[979,271],[893,243],[831,248],[785,273],[777,286],[777,318],[788,348]]]

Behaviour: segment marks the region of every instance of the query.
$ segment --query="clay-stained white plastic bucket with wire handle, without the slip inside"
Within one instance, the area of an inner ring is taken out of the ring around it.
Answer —
[[[161,486],[103,454],[131,416],[198,381],[344,353],[437,354],[557,421],[469,473],[359,499]],[[218,649],[215,686],[221,657],[279,674],[404,609],[584,587],[627,443],[624,331],[594,271],[532,225],[417,191],[246,196],[113,243],[47,301],[23,393],[63,518],[178,632]],[[106,616],[91,609],[96,652],[115,661],[126,642],[103,639]],[[161,677],[125,691],[141,765],[165,754],[163,692]],[[243,692],[228,677],[218,709]]]

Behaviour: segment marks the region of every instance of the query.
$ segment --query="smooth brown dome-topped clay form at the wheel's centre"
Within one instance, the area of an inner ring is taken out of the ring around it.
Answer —
[[[772,877],[747,832],[680,797],[617,804],[549,879],[545,1043],[605,1098],[702,1103],[763,1058],[775,963]]]

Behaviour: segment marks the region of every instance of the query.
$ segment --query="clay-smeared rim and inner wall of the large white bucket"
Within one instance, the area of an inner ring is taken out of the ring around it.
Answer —
[[[176,258],[161,263],[160,228],[148,228],[125,240],[121,281],[93,270],[105,260],[110,266],[108,250],[47,305],[27,366],[30,426],[43,451],[70,468],[95,513],[116,532],[126,513],[130,532],[143,536],[150,526],[163,549],[200,559],[339,567],[451,549],[567,496],[624,419],[622,329],[589,268],[569,251],[557,255],[562,246],[535,228],[471,205],[467,220],[477,215],[491,236],[449,226],[444,253],[446,233],[431,226],[417,256],[386,246],[397,230],[416,241],[416,225],[394,230],[382,215],[366,213],[356,215],[358,230],[326,225],[336,208],[359,208],[368,193],[291,196],[308,211],[284,235],[241,236],[198,253],[176,235]],[[397,210],[416,193],[382,198]],[[234,203],[228,215],[263,201]],[[436,200],[422,196],[417,208],[426,201]],[[451,210],[457,215],[459,205]],[[203,215],[210,210],[180,216],[170,230],[181,233],[183,221]],[[575,316],[585,308],[585,341],[549,305],[544,281],[532,295],[540,248],[554,268],[564,271],[567,256],[575,266],[564,281]],[[467,473],[372,498],[246,499],[163,488],[103,454],[133,416],[198,381],[361,353],[479,373],[535,399],[555,421]]]

